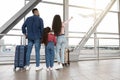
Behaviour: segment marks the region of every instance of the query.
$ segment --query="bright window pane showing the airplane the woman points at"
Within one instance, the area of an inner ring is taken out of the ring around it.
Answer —
[[[94,22],[94,11],[83,8],[69,7],[69,17],[74,20],[69,23],[69,31],[87,32]]]

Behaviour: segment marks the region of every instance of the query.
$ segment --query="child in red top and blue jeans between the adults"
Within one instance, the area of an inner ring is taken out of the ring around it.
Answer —
[[[45,44],[45,59],[47,71],[53,70],[54,66],[54,46],[56,45],[56,37],[49,27],[44,28],[43,41]]]

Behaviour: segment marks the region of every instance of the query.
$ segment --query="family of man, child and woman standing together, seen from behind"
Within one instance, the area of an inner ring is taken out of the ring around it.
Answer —
[[[36,70],[41,70],[40,47],[45,45],[45,59],[47,71],[53,70],[54,57],[56,55],[58,67],[63,68],[64,51],[66,48],[65,25],[72,19],[62,22],[59,15],[53,18],[52,28],[44,28],[43,19],[39,15],[37,8],[32,10],[33,16],[28,17],[22,26],[22,33],[28,38],[28,48],[26,53],[26,70],[30,69],[30,55],[33,45],[36,53]],[[56,47],[56,49],[55,49]]]

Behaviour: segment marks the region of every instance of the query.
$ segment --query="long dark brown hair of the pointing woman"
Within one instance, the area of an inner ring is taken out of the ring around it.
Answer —
[[[61,28],[62,28],[61,17],[60,15],[55,15],[52,22],[52,30],[54,31],[56,36],[60,35]]]

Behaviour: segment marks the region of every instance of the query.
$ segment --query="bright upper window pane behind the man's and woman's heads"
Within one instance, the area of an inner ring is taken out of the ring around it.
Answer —
[[[52,20],[53,20],[54,15],[56,14],[59,14],[61,18],[63,19],[63,6],[62,5],[40,3],[36,6],[36,8],[39,9],[40,16],[44,20],[45,27],[52,26]],[[31,15],[32,15],[32,12],[30,12],[26,17],[31,16]]]

